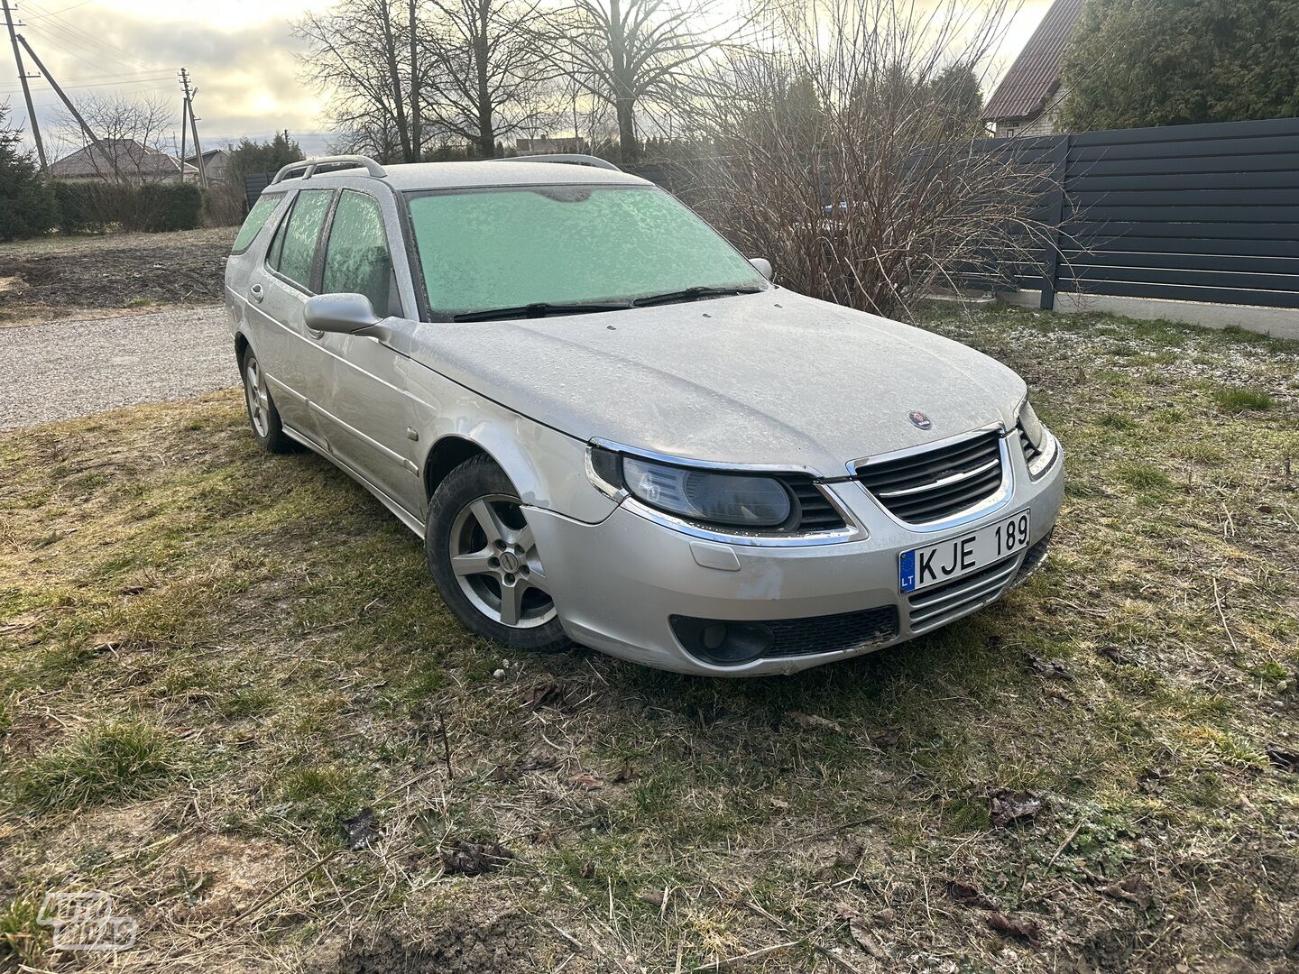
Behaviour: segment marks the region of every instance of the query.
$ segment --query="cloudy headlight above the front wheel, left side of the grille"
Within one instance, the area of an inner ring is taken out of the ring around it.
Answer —
[[[770,477],[713,473],[591,451],[598,483],[622,487],[652,508],[726,527],[778,527],[794,513],[788,490]]]

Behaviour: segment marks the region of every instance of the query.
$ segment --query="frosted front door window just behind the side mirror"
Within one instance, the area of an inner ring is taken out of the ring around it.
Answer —
[[[377,314],[400,314],[392,288],[392,255],[379,204],[365,194],[344,190],[330,222],[325,251],[325,293],[360,293]],[[396,310],[392,310],[396,304]]]

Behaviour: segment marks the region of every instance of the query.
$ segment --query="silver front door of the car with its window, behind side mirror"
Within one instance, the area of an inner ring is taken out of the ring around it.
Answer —
[[[400,239],[399,235],[394,235]],[[322,293],[361,293],[379,318],[401,319],[392,244],[379,200],[340,191],[330,217],[321,271]],[[326,436],[334,455],[410,513],[423,505],[417,442],[407,393],[410,360],[379,338],[326,334],[331,353]]]

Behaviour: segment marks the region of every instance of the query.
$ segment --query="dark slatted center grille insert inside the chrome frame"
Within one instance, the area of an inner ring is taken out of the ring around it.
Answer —
[[[938,449],[868,461],[857,468],[857,479],[900,521],[943,521],[1000,488],[1002,434],[992,430]]]

